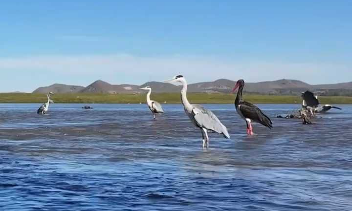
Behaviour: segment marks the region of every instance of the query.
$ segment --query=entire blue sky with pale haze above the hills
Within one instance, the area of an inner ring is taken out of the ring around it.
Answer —
[[[350,0],[5,0],[0,92],[53,83],[352,81]]]

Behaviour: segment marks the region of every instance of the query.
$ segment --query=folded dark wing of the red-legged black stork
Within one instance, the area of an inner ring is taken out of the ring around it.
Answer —
[[[241,112],[245,118],[251,119],[258,122],[265,127],[272,128],[272,122],[268,116],[266,116],[263,111],[254,104],[249,102],[242,102],[240,106]]]

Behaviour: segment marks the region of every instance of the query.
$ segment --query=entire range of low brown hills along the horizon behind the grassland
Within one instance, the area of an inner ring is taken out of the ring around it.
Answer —
[[[219,79],[213,82],[202,82],[196,84],[189,84],[189,92],[220,92],[229,93],[235,86],[236,81],[228,79]],[[87,87],[65,85],[65,84],[53,84],[47,87],[40,87],[33,93],[140,93],[140,87],[151,86],[153,92],[179,92],[181,89],[180,85],[174,85],[169,83],[161,82],[147,82],[142,85],[133,84],[118,84],[113,85],[107,82],[98,80],[89,84]],[[258,83],[246,83],[244,92],[246,93],[258,93],[258,94],[273,94],[273,95],[290,95],[299,94],[301,91],[316,91],[320,92],[321,95],[352,95],[352,82],[340,83],[340,84],[318,84],[311,85],[298,80],[281,79],[277,81],[265,81]]]

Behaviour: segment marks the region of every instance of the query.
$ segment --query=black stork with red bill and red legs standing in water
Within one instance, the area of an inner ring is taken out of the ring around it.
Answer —
[[[253,128],[251,122],[257,122],[269,129],[272,128],[272,122],[269,117],[267,117],[261,109],[259,109],[256,105],[253,105],[249,102],[246,102],[242,98],[242,91],[244,87],[244,81],[241,79],[237,81],[235,87],[232,92],[235,92],[237,88],[239,88],[237,92],[237,97],[235,100],[235,106],[237,113],[246,121],[247,123],[247,134],[253,135]]]

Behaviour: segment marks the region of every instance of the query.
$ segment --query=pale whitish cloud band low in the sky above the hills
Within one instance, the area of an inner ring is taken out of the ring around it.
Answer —
[[[244,78],[248,82],[288,78],[317,84],[337,82],[337,73],[351,76],[351,66],[347,64],[232,61],[195,56],[138,57],[127,54],[0,58],[0,71],[12,70],[45,70],[87,77],[123,75],[131,79],[130,83],[164,80],[179,73],[187,76],[189,82],[219,78]]]

